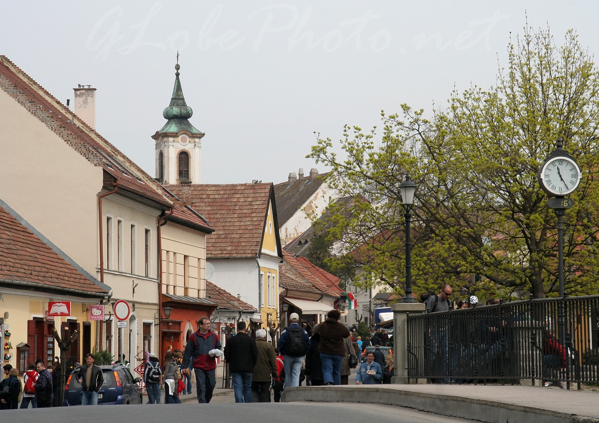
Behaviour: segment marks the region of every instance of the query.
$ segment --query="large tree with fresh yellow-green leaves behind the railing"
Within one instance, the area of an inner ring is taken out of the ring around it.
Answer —
[[[401,114],[383,112],[378,141],[376,127],[370,133],[344,127],[343,159],[331,139],[318,139],[308,157],[330,166],[329,186],[354,199],[352,213],[335,217],[327,229],[344,252],[332,267],[353,261],[371,275],[362,283],[402,292],[399,187],[409,174],[418,185],[416,293],[448,283],[481,298],[555,296],[556,217],[546,207],[537,171],[562,136],[583,171],[565,216],[566,291],[597,293],[597,66],[573,31],[558,46],[549,30],[531,28],[510,42],[508,62],[495,86],[454,91],[429,119],[408,105]]]

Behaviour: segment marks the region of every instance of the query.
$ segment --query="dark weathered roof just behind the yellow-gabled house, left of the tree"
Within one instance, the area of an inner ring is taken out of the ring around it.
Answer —
[[[282,182],[274,185],[274,196],[277,199],[277,215],[279,216],[279,227],[283,226],[298,209],[312,197],[320,185],[323,184],[323,178],[328,175],[319,174],[314,178],[297,179],[289,185],[289,182]]]

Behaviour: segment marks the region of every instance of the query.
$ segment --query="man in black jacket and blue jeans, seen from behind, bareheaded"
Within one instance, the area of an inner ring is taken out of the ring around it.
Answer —
[[[256,341],[247,335],[246,322],[237,323],[237,334],[227,340],[225,360],[233,381],[236,403],[252,402],[252,372],[258,361]]]

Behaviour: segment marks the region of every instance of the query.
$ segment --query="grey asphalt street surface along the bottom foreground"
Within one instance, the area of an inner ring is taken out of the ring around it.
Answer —
[[[222,395],[231,396],[232,395]],[[19,423],[81,423],[110,421],[148,423],[210,419],[219,423],[264,423],[265,421],[313,423],[458,423],[466,419],[449,418],[403,407],[355,403],[261,403],[261,404],[159,404],[134,406],[61,407],[50,409],[4,410],[2,421]]]

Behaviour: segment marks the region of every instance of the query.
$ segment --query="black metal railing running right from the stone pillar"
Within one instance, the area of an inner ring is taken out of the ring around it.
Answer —
[[[407,318],[408,377],[443,383],[599,383],[599,296]]]

